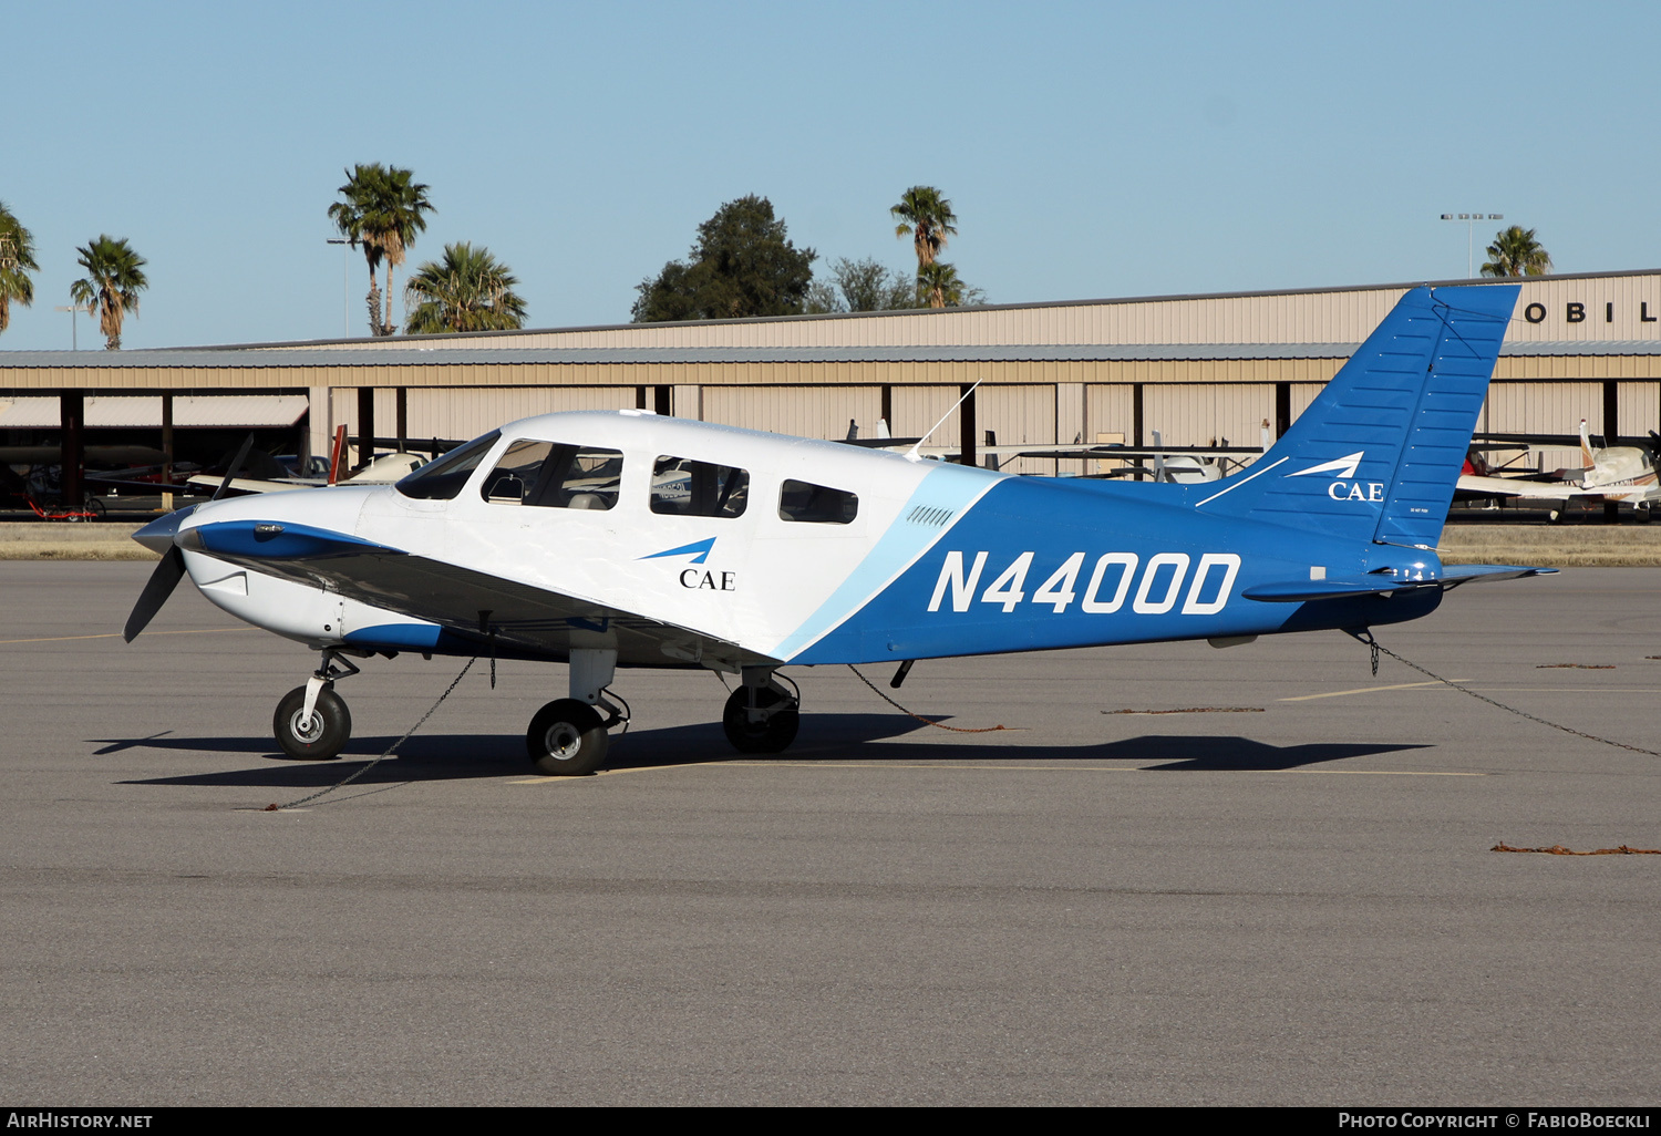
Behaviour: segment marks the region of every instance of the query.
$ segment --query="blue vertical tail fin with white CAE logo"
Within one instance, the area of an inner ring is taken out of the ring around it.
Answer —
[[[1516,294],[1412,289],[1264,457],[1191,500],[1204,513],[1435,546]]]

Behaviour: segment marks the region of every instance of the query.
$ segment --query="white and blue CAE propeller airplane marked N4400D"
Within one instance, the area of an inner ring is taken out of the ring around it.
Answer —
[[[296,757],[350,736],[354,658],[570,666],[527,732],[550,774],[603,764],[616,668],[737,676],[742,752],[796,737],[786,666],[1347,629],[1428,615],[1460,583],[1536,568],[1435,555],[1516,286],[1420,287],[1267,453],[1231,477],[1010,477],[912,453],[658,417],[550,414],[395,485],[216,500],[153,521],[126,624],[181,576],[321,653],[277,704]]]

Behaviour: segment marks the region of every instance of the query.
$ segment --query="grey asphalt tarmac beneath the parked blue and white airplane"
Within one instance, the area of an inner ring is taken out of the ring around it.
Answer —
[[[145,563],[0,563],[3,1104],[1654,1104],[1661,757],[1337,633],[801,671],[736,759],[708,673],[312,656]],[[100,638],[103,636],[103,638]],[[1477,585],[1380,641],[1661,749],[1661,570]],[[887,691],[889,673],[870,669]],[[1124,714],[1118,711],[1143,711]],[[1146,712],[1196,711],[1196,712]]]

